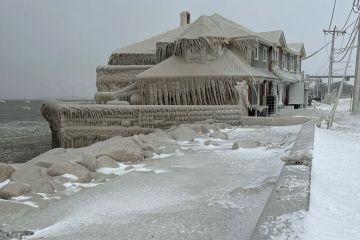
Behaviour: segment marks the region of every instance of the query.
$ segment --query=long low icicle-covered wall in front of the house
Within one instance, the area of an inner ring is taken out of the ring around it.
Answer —
[[[98,105],[45,102],[41,108],[49,122],[53,147],[76,148],[113,136],[146,134],[182,123],[202,121],[233,126],[281,126],[307,118],[247,117],[238,105]]]

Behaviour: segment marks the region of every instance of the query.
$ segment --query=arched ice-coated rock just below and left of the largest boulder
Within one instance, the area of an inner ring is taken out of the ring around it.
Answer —
[[[47,170],[47,174],[53,177],[71,174],[78,178],[78,182],[87,182],[91,179],[89,170],[75,162],[55,163]]]

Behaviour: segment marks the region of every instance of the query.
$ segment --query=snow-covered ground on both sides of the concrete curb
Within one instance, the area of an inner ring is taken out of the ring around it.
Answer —
[[[360,239],[360,118],[349,107],[342,99],[332,129],[325,122],[316,129],[309,211],[277,217],[284,231],[271,239]],[[326,120],[330,111],[315,103],[299,115]],[[1,200],[0,224],[35,231],[34,239],[248,239],[299,128],[223,129],[228,139],[208,133],[171,140],[171,151],[144,162],[97,169],[118,176],[101,183],[65,174],[69,194],[39,193],[46,206],[34,195]],[[231,150],[235,141],[253,146]],[[12,215],[14,204],[22,208]],[[24,214],[24,207],[32,211]]]

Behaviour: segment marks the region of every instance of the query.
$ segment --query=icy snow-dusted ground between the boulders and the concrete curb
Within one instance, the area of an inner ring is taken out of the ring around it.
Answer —
[[[82,190],[6,223],[35,231],[33,239],[248,239],[299,129],[233,128],[222,130],[228,139],[176,141],[175,151],[130,170],[98,169],[120,175],[105,183],[69,182],[69,191]],[[244,140],[253,146],[232,150]]]

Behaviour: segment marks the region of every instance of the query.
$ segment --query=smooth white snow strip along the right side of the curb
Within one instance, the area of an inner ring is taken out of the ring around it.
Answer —
[[[360,239],[360,129],[355,126],[316,129],[304,239]]]

